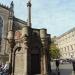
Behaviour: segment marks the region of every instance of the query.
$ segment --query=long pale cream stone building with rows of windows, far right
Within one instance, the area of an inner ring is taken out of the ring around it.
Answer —
[[[75,27],[56,38],[62,59],[75,58]]]

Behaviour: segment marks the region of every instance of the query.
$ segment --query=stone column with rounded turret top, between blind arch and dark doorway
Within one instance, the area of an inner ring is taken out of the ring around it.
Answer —
[[[24,75],[28,75],[28,36],[29,28],[24,26],[22,29],[22,47],[24,51]]]

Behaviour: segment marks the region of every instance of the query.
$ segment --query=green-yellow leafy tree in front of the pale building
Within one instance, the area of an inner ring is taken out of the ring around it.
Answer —
[[[50,54],[52,59],[60,57],[59,49],[56,47],[56,44],[54,44],[54,41],[52,41],[50,45]]]

